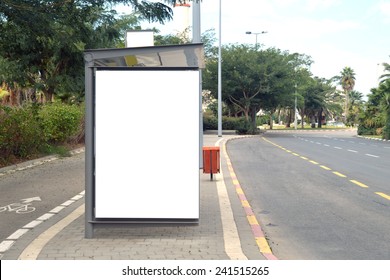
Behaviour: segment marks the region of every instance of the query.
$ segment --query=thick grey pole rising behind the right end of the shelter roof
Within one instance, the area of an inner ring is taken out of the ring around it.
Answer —
[[[192,3],[192,42],[201,43],[200,2]],[[202,70],[199,70],[199,169],[203,168]]]

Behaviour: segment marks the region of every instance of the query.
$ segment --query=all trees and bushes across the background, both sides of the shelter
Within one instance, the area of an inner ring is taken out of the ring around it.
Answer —
[[[66,154],[82,145],[84,50],[124,47],[125,31],[140,30],[145,20],[172,19],[172,6],[183,1],[57,2],[0,2],[0,166],[46,153]],[[132,6],[134,13],[117,14],[118,4]],[[190,30],[155,33],[155,45],[190,42]],[[204,129],[217,129],[218,49],[213,30],[203,34],[202,42]],[[354,90],[353,69],[315,77],[306,54],[233,44],[222,46],[222,59],[223,129],[256,134],[259,127],[293,128],[297,116],[300,129],[342,123],[358,127],[359,134],[389,139],[388,63],[383,64],[379,86],[363,94]]]

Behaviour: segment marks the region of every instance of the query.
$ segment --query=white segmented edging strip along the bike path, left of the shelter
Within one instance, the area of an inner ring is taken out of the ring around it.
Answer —
[[[8,236],[5,240],[3,240],[0,243],[0,259],[2,256],[9,250],[11,247],[15,244],[15,242],[21,238],[23,235],[25,235],[27,232],[29,232],[31,229],[34,229],[41,223],[49,220],[56,214],[60,213],[63,209],[65,209],[67,206],[73,204],[74,202],[78,201],[79,199],[83,198],[85,194],[85,191],[80,192],[78,195],[72,197],[71,199],[65,201],[61,205],[53,208],[46,214],[43,214],[42,216],[38,217],[37,219],[29,222],[28,224],[24,225],[22,228],[16,230],[14,233],[12,233],[10,236]]]

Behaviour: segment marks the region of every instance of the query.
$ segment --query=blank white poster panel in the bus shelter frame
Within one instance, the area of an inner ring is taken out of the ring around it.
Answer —
[[[199,72],[95,77],[95,217],[199,219]]]

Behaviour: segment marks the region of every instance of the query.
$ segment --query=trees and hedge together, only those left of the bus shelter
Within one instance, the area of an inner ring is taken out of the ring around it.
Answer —
[[[84,50],[124,47],[141,21],[172,19],[176,1],[163,2],[0,1],[0,167],[83,145]]]

